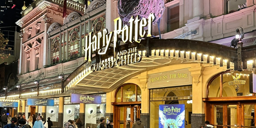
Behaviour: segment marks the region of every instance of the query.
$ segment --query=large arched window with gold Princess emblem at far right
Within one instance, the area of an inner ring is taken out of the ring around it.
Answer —
[[[214,76],[207,85],[207,97],[252,96],[250,94],[251,71],[230,71]]]

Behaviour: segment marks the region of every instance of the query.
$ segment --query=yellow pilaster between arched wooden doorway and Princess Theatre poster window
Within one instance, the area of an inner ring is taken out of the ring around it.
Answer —
[[[149,90],[147,89],[148,75],[147,72],[141,73],[141,76],[138,77],[141,82],[141,122],[145,128],[149,128]]]

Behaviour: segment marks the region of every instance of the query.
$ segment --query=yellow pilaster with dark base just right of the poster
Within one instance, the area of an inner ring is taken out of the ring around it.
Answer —
[[[201,64],[191,64],[191,67],[188,70],[192,76],[192,114],[191,114],[191,128],[198,128],[198,126],[204,124],[205,122],[205,110],[204,102],[202,101],[203,95],[203,70],[204,67]]]

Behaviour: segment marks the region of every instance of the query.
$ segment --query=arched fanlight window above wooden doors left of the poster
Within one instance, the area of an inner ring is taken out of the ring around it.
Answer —
[[[141,88],[136,84],[124,84],[121,87],[119,87],[115,92],[115,102],[135,101],[141,101]]]

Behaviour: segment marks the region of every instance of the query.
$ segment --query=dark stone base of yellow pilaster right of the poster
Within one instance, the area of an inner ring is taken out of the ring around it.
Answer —
[[[191,128],[198,128],[205,124],[205,114],[191,114]]]

